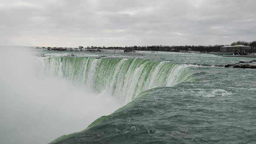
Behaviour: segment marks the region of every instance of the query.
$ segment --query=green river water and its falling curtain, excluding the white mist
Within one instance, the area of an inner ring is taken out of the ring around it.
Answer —
[[[39,52],[45,75],[109,91],[124,107],[52,144],[255,144],[256,70],[213,55]],[[99,58],[98,55],[107,57]]]

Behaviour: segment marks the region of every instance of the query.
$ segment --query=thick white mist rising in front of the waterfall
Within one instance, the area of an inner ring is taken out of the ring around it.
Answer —
[[[30,49],[1,48],[1,144],[46,144],[122,106],[107,92],[44,75],[37,58]]]

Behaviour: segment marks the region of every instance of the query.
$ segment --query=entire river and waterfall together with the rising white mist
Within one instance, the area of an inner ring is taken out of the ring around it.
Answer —
[[[8,52],[3,144],[256,143],[256,70],[219,66],[253,58]]]

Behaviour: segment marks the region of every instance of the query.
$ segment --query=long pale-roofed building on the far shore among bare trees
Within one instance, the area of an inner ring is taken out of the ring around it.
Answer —
[[[233,52],[234,54],[238,53],[250,53],[251,52],[251,47],[250,46],[223,46],[220,47],[220,52]]]

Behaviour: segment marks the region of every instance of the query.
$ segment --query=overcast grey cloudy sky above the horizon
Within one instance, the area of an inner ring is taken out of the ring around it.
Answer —
[[[255,0],[0,0],[0,45],[215,45],[256,40]]]

